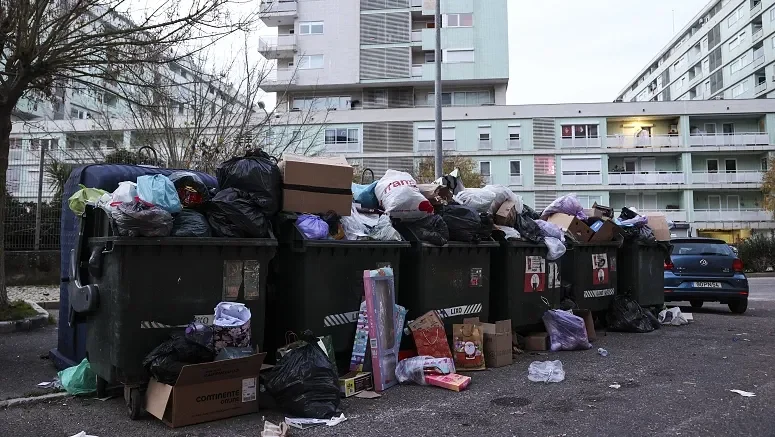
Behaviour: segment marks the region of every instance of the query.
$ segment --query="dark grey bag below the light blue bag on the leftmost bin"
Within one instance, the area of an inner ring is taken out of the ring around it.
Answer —
[[[167,237],[172,231],[172,214],[143,201],[122,203],[111,217],[122,237]]]

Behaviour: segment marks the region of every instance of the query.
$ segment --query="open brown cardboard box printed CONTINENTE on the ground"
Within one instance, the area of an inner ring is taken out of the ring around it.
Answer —
[[[258,412],[265,353],[183,366],[175,386],[148,383],[145,410],[172,428]]]

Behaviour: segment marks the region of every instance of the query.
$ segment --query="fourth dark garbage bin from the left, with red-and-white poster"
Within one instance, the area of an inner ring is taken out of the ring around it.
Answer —
[[[560,260],[547,260],[543,243],[499,244],[491,263],[490,319],[511,319],[516,331],[538,328],[546,310],[556,308],[562,298]]]

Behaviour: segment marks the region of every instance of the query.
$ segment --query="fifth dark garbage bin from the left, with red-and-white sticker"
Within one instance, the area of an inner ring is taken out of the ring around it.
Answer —
[[[580,309],[606,311],[618,287],[617,248],[621,243],[566,241],[562,260],[563,279],[572,286],[570,298]]]

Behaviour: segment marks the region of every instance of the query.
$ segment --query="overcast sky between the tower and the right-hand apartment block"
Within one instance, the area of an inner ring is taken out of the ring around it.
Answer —
[[[508,0],[508,104],[610,102],[709,0]]]

